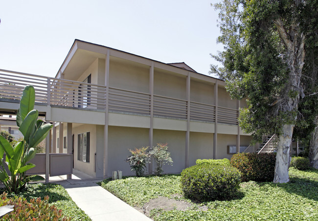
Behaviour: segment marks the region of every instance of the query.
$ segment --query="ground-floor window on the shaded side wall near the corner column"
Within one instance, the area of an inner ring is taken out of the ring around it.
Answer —
[[[90,142],[90,132],[77,135],[77,160],[90,162]]]

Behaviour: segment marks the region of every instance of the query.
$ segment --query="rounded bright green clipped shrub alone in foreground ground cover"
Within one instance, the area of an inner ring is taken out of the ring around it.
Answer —
[[[239,189],[240,172],[231,166],[202,163],[184,169],[181,188],[190,199],[226,200]]]

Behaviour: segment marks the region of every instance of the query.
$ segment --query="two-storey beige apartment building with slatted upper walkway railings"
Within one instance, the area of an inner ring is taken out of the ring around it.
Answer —
[[[128,149],[159,142],[174,161],[165,173],[180,173],[197,159],[230,158],[250,145],[237,123],[245,101],[231,100],[223,80],[183,62],[75,40],[55,78],[0,72],[1,111],[16,110],[23,84],[33,84],[36,108],[54,124],[49,152],[71,155],[73,167],[93,177],[133,175]]]

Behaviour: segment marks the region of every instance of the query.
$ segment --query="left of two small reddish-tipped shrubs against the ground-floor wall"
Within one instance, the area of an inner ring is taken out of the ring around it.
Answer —
[[[149,154],[146,152],[147,149],[148,147],[135,148],[135,150],[129,149],[132,155],[126,159],[126,162],[129,162],[131,171],[135,171],[137,177],[143,176],[147,163],[149,162]]]

